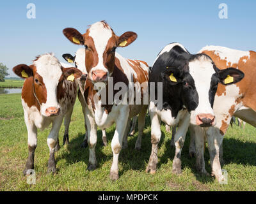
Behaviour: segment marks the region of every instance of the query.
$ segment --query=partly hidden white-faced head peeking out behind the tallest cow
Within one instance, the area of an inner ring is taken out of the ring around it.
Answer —
[[[86,80],[87,77],[87,71],[85,68],[85,50],[84,48],[79,48],[76,51],[76,55],[72,56],[71,54],[63,54],[62,57],[67,61],[68,63],[75,63],[75,66],[77,69],[82,71],[83,75],[81,75],[80,80]]]

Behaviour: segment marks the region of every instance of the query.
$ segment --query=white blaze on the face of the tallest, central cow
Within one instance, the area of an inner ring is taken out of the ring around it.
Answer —
[[[109,38],[111,38],[113,34],[111,28],[103,22],[97,22],[90,27],[89,31],[89,36],[93,38],[94,46],[99,58],[98,64],[91,69],[91,72],[95,70],[108,72],[108,69],[104,67],[103,54],[108,45]]]

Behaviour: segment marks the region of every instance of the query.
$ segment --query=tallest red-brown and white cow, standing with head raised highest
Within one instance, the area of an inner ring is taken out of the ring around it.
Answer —
[[[88,77],[84,85],[84,98],[86,101],[85,118],[90,149],[88,170],[94,170],[97,166],[95,155],[97,126],[100,129],[105,129],[115,123],[116,129],[111,141],[113,163],[109,177],[111,180],[116,180],[119,178],[118,156],[122,146],[127,146],[127,121],[139,114],[139,136],[136,141],[136,148],[140,148],[148,107],[148,103],[143,103],[145,92],[147,93],[148,91],[147,63],[125,59],[116,52],[116,48],[127,47],[136,40],[137,34],[129,31],[121,36],[116,36],[113,29],[105,21],[90,25],[84,34],[79,33],[74,28],[64,29],[63,34],[72,43],[83,45],[86,49],[85,65]],[[111,81],[113,82],[112,85]],[[139,87],[129,85],[132,82],[139,85]],[[99,83],[105,84],[106,87],[102,87],[100,91],[95,89]],[[123,89],[124,85],[125,89]],[[117,88],[113,89],[113,87]],[[129,96],[129,104],[126,103],[127,99],[125,97],[120,99],[119,94],[122,90]],[[99,98],[99,92],[104,91],[107,91],[106,103],[102,98]],[[142,103],[130,103],[131,101],[134,102],[135,96],[138,93],[140,95],[139,100]],[[122,102],[118,102],[118,99]]]

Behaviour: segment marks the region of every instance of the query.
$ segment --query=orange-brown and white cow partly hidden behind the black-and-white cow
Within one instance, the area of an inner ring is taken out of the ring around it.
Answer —
[[[191,135],[191,138],[196,141],[195,144],[191,142],[189,154],[193,154],[196,150],[196,160],[202,161],[199,168],[201,171],[205,171],[204,151],[202,149],[206,137],[211,161],[211,174],[221,182],[225,179],[221,172],[221,163],[223,163],[222,142],[232,116],[256,127],[256,93],[253,88],[254,76],[256,75],[256,52],[206,46],[199,53],[209,55],[214,64],[221,69],[232,66],[244,73],[244,79],[241,82],[228,86],[222,84],[218,86],[213,106],[216,113],[216,126],[208,129],[194,128],[193,135]],[[230,80],[233,79],[230,78]]]

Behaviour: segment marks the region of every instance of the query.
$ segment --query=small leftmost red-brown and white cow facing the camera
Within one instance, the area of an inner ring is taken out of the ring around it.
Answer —
[[[65,119],[65,132],[69,126],[76,101],[76,79],[82,73],[76,68],[63,68],[54,54],[39,55],[30,66],[19,64],[13,68],[13,72],[26,78],[21,101],[28,130],[29,154],[23,173],[26,175],[26,171],[34,168],[37,129],[44,130],[50,124],[52,128],[47,138],[50,150],[47,172],[55,173],[54,152],[58,145],[58,133],[64,116],[69,119]]]

